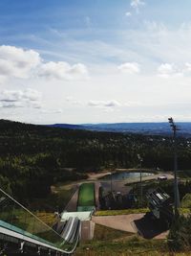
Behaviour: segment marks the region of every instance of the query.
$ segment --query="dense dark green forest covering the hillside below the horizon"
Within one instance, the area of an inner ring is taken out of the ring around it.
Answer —
[[[191,139],[179,138],[179,168],[191,167]],[[19,200],[45,198],[52,184],[88,172],[138,167],[171,170],[172,139],[114,132],[50,128],[0,120],[0,185]],[[73,168],[71,171],[67,168]]]

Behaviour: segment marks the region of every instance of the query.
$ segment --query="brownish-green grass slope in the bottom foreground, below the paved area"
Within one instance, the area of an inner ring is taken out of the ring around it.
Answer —
[[[82,243],[74,253],[76,256],[117,255],[170,255],[164,240],[144,240],[137,235],[96,224],[93,241]],[[171,254],[173,255],[173,254]],[[183,255],[183,254],[180,254]],[[184,254],[185,255],[185,254]]]

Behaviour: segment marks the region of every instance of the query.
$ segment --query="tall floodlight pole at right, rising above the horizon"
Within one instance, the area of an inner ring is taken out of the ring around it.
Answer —
[[[178,208],[180,207],[180,194],[179,194],[179,186],[178,186],[178,179],[177,179],[177,170],[178,170],[178,164],[177,164],[177,126],[175,125],[175,122],[172,117],[168,118],[168,122],[170,124],[170,127],[173,131],[173,143],[174,143],[174,204],[175,204],[175,217],[179,215]]]

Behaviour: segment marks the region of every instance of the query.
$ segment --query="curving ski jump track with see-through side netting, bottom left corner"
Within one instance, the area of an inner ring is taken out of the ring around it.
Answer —
[[[79,240],[79,230],[80,223],[78,229],[74,228],[73,243],[69,243],[52,227],[41,221],[26,207],[0,189],[1,240],[16,239],[16,243],[20,244],[20,251],[29,243],[34,244],[39,253],[40,249],[47,248],[49,254],[52,250],[72,254]],[[72,231],[70,230],[70,232]],[[5,238],[3,235],[5,235]]]

